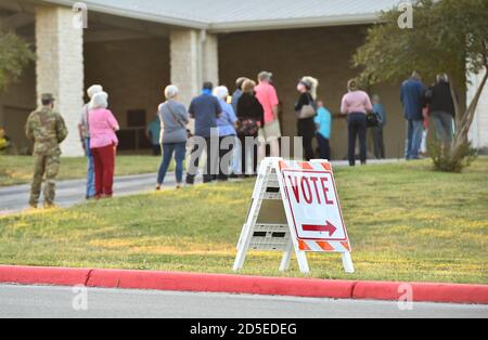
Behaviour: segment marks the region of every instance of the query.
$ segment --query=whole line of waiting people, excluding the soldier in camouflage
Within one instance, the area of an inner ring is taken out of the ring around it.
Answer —
[[[297,84],[298,100],[295,104],[298,136],[303,139],[304,158],[314,158],[313,140],[317,139],[320,157],[331,158],[332,115],[317,97],[319,81],[304,77]],[[341,113],[347,116],[348,159],[356,165],[356,145],[359,140],[360,161],[367,162],[367,132],[372,128],[374,153],[385,157],[383,129],[386,113],[377,95],[370,99],[359,89],[356,79],[348,81]],[[111,197],[115,172],[115,155],[118,144],[116,131],[119,125],[107,109],[108,94],[101,86],[88,89],[90,103],[81,112],[79,133],[86,149],[88,167],[87,198]],[[194,184],[204,152],[207,155],[203,175],[204,183],[229,178],[254,175],[257,166],[266,157],[280,156],[280,101],[272,82],[272,74],[262,71],[258,83],[248,78],[239,78],[236,90],[230,96],[229,89],[206,82],[201,95],[193,99],[190,107],[178,101],[179,89],[171,84],[165,89],[166,101],[158,107],[160,134],[158,144],[163,149],[163,161],[157,174],[156,189],[164,184],[171,161],[176,161],[177,187],[183,185],[183,169],[189,141],[194,143],[185,183]],[[452,117],[454,115],[450,86],[446,75],[437,77],[437,83],[427,89],[414,73],[401,86],[400,99],[407,119],[408,140],[406,158],[418,159],[424,130],[424,108],[428,104],[438,138],[446,144],[452,141]],[[373,116],[373,118],[371,117]],[[188,130],[190,119],[195,121],[195,135]],[[154,129],[157,131],[157,129]],[[155,132],[152,132],[154,134]],[[192,138],[192,139],[191,139]],[[154,139],[154,136],[153,136]],[[200,139],[202,143],[195,142]],[[249,143],[248,140],[254,141]],[[217,142],[216,142],[217,141]],[[257,155],[257,157],[255,157]],[[224,161],[222,161],[224,160]]]

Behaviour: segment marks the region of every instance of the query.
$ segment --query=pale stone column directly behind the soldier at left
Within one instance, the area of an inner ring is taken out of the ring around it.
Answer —
[[[68,8],[36,8],[37,94],[54,94],[69,135],[64,156],[82,156],[78,120],[84,104],[84,30],[74,28]]]

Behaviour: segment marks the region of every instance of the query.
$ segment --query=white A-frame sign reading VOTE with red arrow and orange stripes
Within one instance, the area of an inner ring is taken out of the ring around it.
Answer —
[[[290,269],[295,253],[301,273],[310,272],[307,252],[338,252],[346,273],[355,272],[329,161],[266,158],[261,162],[234,271],[243,269],[249,250],[282,251],[280,271]]]

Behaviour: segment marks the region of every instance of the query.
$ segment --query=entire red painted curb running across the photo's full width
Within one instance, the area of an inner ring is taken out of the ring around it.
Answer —
[[[153,271],[1,266],[0,283],[398,301],[488,304],[488,286],[324,280]]]

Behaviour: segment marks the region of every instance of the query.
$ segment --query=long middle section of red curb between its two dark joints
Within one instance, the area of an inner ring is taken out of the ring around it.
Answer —
[[[332,299],[350,299],[354,285],[354,282],[347,280],[114,270],[94,270],[87,284],[88,287],[104,288],[139,288]]]

